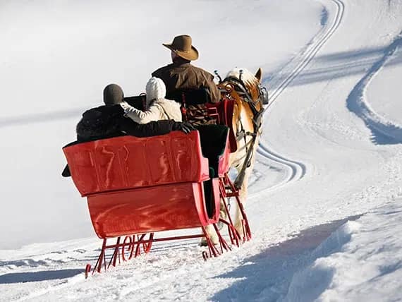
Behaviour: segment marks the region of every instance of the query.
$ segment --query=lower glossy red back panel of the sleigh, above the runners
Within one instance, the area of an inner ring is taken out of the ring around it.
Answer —
[[[202,183],[175,183],[88,196],[99,238],[206,226],[219,219],[219,180],[213,180],[215,213],[209,219]]]

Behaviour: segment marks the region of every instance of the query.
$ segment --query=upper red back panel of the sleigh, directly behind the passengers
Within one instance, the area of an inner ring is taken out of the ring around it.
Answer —
[[[83,196],[209,178],[197,131],[95,140],[64,147],[63,152]]]

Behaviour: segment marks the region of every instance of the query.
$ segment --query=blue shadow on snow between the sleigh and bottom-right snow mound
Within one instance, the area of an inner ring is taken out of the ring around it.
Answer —
[[[262,253],[245,259],[235,270],[215,277],[216,279],[238,279],[238,281],[229,288],[219,291],[210,300],[265,302],[284,298],[293,274],[315,260],[312,259],[313,250],[342,224],[358,219],[360,216],[310,227],[288,241],[270,246]],[[340,246],[334,246],[332,250],[325,253],[333,253],[336,248]],[[320,253],[320,257],[325,257],[325,253]],[[326,286],[331,282],[331,278],[323,278],[321,281],[322,286]],[[317,289],[317,296],[320,290]]]

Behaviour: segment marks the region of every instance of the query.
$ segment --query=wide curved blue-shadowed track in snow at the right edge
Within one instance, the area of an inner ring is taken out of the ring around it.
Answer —
[[[389,47],[384,49],[384,56],[372,65],[366,75],[353,87],[346,100],[348,109],[365,122],[367,128],[372,132],[373,143],[377,145],[402,143],[402,128],[379,116],[367,103],[365,91],[372,78],[379,73],[401,45],[402,32]]]

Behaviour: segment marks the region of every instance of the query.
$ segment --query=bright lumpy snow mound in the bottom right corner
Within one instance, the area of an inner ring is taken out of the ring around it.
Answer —
[[[402,200],[346,222],[296,272],[284,301],[399,301]],[[386,297],[386,298],[385,298]]]

